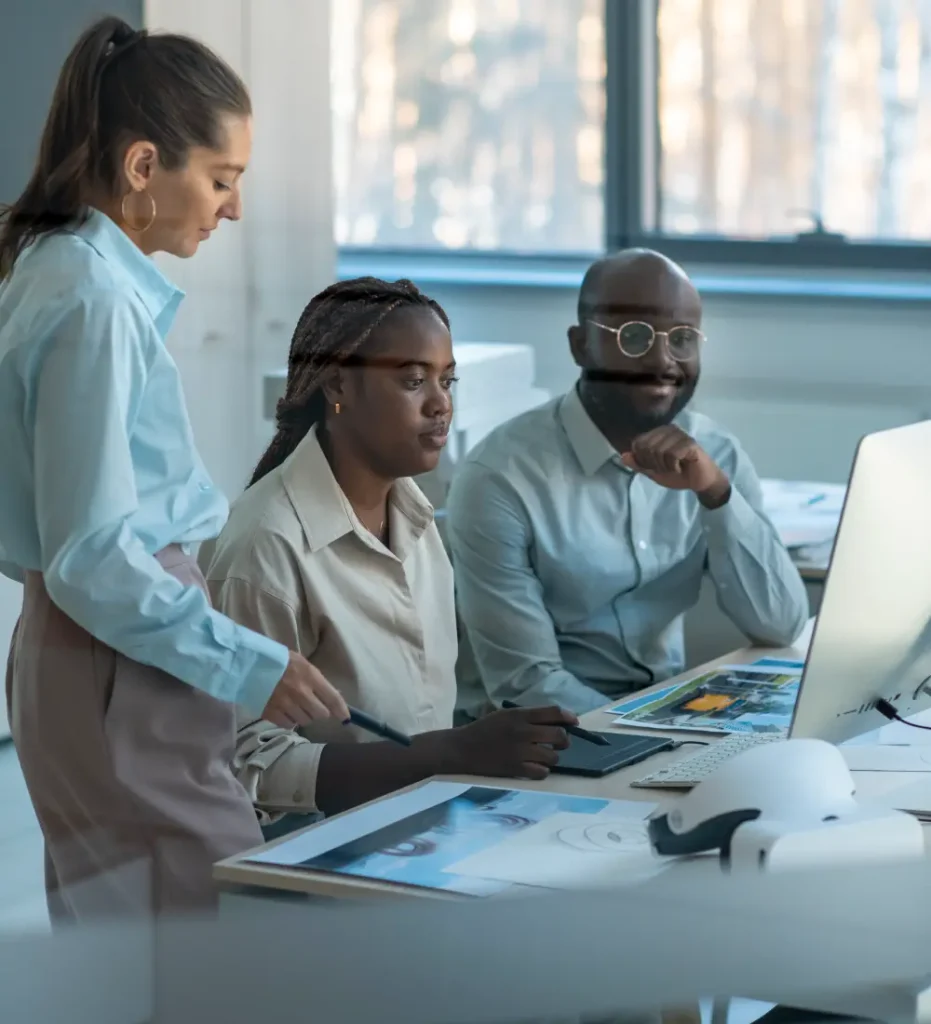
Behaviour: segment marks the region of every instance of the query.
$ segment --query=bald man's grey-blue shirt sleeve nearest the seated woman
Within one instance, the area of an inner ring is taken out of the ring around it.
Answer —
[[[466,463],[447,515],[459,614],[489,697],[498,705],[555,702],[577,714],[603,707],[604,695],[562,665],[531,564],[531,527],[507,481]]]

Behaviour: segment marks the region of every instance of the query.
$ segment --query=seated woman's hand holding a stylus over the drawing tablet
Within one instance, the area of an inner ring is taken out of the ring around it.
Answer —
[[[443,743],[445,774],[541,779],[559,760],[557,752],[568,746],[565,726],[578,724],[562,708],[519,708],[427,735]]]

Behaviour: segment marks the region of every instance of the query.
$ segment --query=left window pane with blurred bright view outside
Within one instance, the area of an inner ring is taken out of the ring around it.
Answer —
[[[604,244],[602,0],[335,0],[341,246]]]

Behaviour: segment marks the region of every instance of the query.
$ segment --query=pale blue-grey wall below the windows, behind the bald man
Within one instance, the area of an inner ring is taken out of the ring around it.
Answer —
[[[540,386],[575,379],[572,290],[429,291],[454,338],[531,343]],[[696,408],[738,434],[763,475],[843,481],[862,434],[931,417],[929,304],[712,296],[705,315]]]

